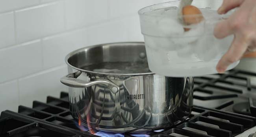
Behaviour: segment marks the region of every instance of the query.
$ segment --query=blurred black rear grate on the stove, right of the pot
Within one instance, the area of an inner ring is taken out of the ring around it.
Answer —
[[[256,73],[242,70],[195,78],[194,105],[256,117],[255,84]]]

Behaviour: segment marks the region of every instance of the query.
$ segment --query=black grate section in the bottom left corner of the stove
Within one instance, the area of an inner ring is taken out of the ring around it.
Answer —
[[[53,124],[4,111],[0,117],[0,137],[91,137]]]

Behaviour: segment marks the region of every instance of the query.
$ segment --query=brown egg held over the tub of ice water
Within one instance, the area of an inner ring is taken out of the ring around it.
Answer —
[[[195,6],[187,5],[182,9],[183,22],[185,25],[197,24],[204,20],[202,12]],[[189,28],[184,28],[185,31],[189,31]]]

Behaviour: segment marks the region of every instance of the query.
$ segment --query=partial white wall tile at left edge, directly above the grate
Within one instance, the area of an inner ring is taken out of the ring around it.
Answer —
[[[0,84],[0,95],[0,112],[4,110],[18,111],[19,91],[17,80]]]

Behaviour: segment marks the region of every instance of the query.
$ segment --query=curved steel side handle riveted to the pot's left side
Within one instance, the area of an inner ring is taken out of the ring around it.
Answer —
[[[116,94],[119,91],[119,87],[112,83],[111,81],[108,81],[106,79],[100,79],[96,81],[84,81],[81,79],[76,79],[77,76],[79,76],[82,72],[75,72],[70,73],[67,76],[64,76],[60,79],[61,83],[63,83],[66,86],[73,87],[73,88],[87,88],[91,87],[93,85],[106,85],[113,94]]]

